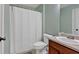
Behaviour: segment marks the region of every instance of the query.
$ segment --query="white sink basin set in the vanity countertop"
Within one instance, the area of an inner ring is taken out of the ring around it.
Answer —
[[[76,40],[76,39],[73,40],[66,37],[56,37],[56,39],[66,44],[79,45],[79,40]]]

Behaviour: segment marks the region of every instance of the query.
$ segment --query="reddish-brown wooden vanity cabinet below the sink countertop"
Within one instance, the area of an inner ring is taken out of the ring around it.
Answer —
[[[49,40],[49,54],[78,54],[79,52]]]

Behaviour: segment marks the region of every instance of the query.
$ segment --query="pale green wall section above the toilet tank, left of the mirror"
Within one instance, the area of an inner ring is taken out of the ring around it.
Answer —
[[[57,4],[45,5],[45,33],[57,35],[59,32],[60,7]]]

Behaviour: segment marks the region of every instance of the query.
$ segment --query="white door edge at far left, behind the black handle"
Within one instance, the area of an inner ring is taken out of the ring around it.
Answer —
[[[0,21],[1,21],[1,35],[0,35],[0,37],[1,38],[4,38],[5,37],[5,34],[4,34],[4,7],[5,7],[5,5],[4,4],[1,4],[0,5],[0,8],[1,8],[1,10],[0,10],[0,13],[1,13],[1,15],[0,15],[0,17],[1,17],[1,19],[0,19]],[[0,54],[4,54],[4,40],[1,40],[0,41],[0,43],[1,43],[1,53]]]

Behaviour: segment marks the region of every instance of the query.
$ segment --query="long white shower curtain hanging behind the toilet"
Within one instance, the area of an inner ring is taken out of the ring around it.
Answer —
[[[42,14],[13,7],[11,14],[11,53],[27,52],[42,38]],[[13,18],[13,20],[12,20]],[[13,49],[12,49],[13,48]]]

